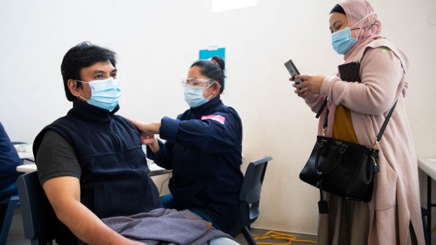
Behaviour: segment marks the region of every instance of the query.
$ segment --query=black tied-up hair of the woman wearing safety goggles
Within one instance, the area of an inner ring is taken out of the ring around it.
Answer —
[[[192,67],[200,67],[200,72],[203,76],[218,81],[221,88],[219,89],[219,93],[224,91],[224,69],[226,68],[226,64],[224,60],[219,56],[212,57],[212,60],[197,60],[192,65]]]

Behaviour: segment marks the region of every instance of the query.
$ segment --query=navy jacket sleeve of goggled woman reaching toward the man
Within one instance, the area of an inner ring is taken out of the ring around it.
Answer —
[[[241,128],[231,114],[219,115],[225,118],[224,124],[212,119],[182,121],[164,117],[160,138],[205,153],[231,152],[238,144]]]

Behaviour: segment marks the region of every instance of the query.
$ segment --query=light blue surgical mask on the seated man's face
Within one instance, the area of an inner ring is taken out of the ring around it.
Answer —
[[[91,87],[91,98],[89,98],[89,100],[86,100],[80,96],[80,98],[86,100],[91,105],[95,105],[96,107],[100,107],[112,112],[117,106],[118,101],[120,101],[120,81],[113,79],[113,77],[104,80],[79,82],[89,84]]]

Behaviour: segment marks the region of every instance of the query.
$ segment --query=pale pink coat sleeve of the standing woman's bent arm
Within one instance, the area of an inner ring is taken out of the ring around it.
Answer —
[[[321,95],[362,114],[383,114],[401,95],[404,69],[399,58],[385,47],[368,48],[361,59],[361,83],[326,77]]]

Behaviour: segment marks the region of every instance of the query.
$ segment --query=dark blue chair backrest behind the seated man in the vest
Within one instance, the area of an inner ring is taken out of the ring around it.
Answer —
[[[56,236],[56,214],[39,184],[37,172],[18,177],[23,228],[26,239],[33,244],[47,244]]]

